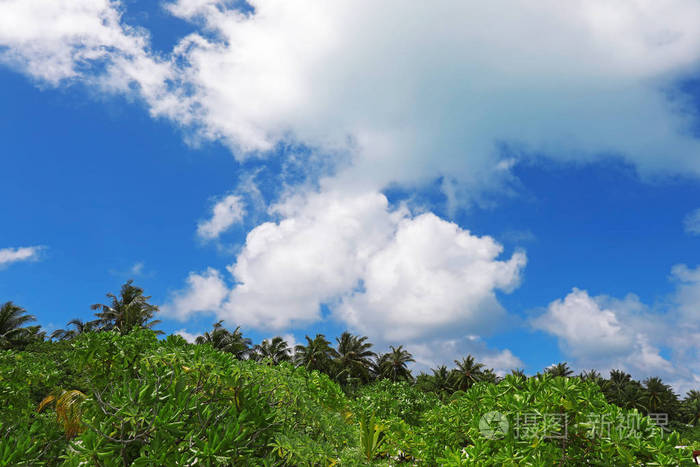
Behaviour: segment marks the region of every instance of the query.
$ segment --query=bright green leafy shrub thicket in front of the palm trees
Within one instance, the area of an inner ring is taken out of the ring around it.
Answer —
[[[509,376],[444,402],[388,380],[347,395],[148,330],[0,351],[0,400],[0,465],[692,465],[676,448],[692,440],[648,418],[601,436],[595,420],[638,414],[579,378]]]

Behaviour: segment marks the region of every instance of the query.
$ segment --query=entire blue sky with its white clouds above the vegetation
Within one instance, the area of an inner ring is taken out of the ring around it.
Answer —
[[[188,336],[347,328],[419,367],[700,385],[692,2],[660,25],[592,2],[578,29],[445,2],[395,35],[389,3],[25,2],[0,6],[23,25],[0,33],[0,301],[43,326],[133,278]]]

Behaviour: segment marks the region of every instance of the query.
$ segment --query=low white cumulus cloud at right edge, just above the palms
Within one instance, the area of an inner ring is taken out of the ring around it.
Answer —
[[[677,288],[662,313],[635,295],[592,297],[574,288],[534,318],[534,328],[556,336],[577,369],[623,369],[639,378],[662,376],[684,393],[700,383],[700,267],[675,266]],[[662,349],[670,355],[662,355]]]

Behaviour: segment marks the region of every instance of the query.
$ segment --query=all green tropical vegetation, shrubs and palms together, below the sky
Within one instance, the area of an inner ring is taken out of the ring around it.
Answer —
[[[700,391],[565,362],[497,375],[472,355],[414,375],[366,336],[189,343],[131,281],[46,335],[0,306],[2,465],[693,465]],[[663,414],[664,417],[659,417]]]

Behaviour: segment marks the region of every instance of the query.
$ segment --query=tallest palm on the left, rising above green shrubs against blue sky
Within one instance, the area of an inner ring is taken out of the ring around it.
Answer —
[[[143,289],[132,285],[133,282],[129,280],[122,285],[119,297],[111,293],[107,294],[107,298],[111,299],[109,305],[101,303],[92,305],[93,310],[100,310],[95,313],[95,316],[98,318],[101,329],[106,331],[115,329],[124,335],[134,327],[150,329],[160,323],[158,320],[149,321],[158,311],[158,307],[148,303],[151,297],[144,296]],[[162,331],[156,331],[156,333],[163,334]]]

